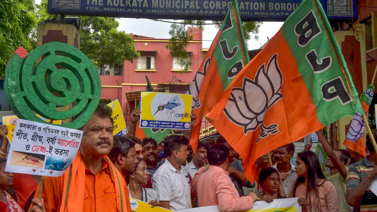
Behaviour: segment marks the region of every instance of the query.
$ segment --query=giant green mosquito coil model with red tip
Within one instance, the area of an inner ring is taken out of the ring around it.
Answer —
[[[46,123],[75,117],[60,125],[79,129],[92,117],[101,95],[97,68],[79,49],[50,42],[28,53],[18,48],[5,68],[6,99],[19,118]],[[72,108],[59,108],[72,105]],[[51,123],[52,124],[52,123]]]

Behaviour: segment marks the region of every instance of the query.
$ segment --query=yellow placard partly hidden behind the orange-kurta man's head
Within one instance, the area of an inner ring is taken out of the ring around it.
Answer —
[[[113,115],[111,116],[114,121],[113,135],[126,135],[127,126],[119,100],[112,101],[107,104],[107,106],[109,106],[113,111]]]

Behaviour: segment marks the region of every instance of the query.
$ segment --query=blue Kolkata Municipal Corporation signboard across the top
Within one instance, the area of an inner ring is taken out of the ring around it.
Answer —
[[[284,21],[302,0],[238,0],[242,21]],[[356,0],[320,0],[329,19],[357,18]],[[51,14],[224,20],[231,0],[48,0]]]

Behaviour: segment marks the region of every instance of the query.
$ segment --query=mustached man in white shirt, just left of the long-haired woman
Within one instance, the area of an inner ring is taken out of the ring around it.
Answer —
[[[289,143],[274,150],[273,166],[279,172],[280,179],[283,181],[282,186],[286,195],[291,193],[294,182],[297,180],[296,169],[291,164],[291,159],[294,154],[294,144]]]

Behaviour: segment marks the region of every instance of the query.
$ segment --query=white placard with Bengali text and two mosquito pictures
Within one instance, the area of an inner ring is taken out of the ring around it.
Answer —
[[[83,131],[18,119],[6,172],[59,177],[75,158]]]

